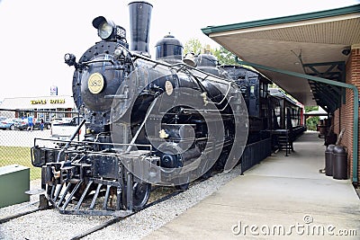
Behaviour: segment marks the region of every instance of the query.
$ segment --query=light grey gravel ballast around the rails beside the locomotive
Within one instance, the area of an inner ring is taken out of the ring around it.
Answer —
[[[238,165],[229,173],[218,173],[204,182],[191,185],[187,191],[169,200],[141,210],[130,218],[122,219],[83,239],[139,239],[147,236],[219,190],[240,172]],[[40,182],[31,182],[31,188],[39,188],[39,186]],[[36,200],[39,200],[38,195],[31,196],[31,202]],[[9,206],[0,209],[0,218],[36,209],[37,206],[38,204],[29,206],[29,202]],[[71,239],[112,218],[63,215],[57,209],[42,210],[0,225],[0,239]]]

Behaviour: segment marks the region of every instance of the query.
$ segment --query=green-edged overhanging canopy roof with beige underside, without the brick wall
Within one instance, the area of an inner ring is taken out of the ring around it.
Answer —
[[[345,81],[344,49],[360,44],[360,4],[316,13],[202,29],[247,62]],[[347,53],[347,55],[346,55]],[[335,111],[340,89],[296,76],[257,69],[304,105]]]

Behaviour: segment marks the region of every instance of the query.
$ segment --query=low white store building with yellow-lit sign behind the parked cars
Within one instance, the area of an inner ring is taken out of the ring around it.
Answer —
[[[69,118],[71,111],[77,111],[74,98],[69,95],[4,98],[0,109],[0,116],[7,118],[23,118],[31,114],[46,121],[55,117]]]

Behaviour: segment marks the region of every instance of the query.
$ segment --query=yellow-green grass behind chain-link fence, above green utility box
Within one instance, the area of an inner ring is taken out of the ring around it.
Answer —
[[[41,168],[31,164],[30,147],[0,146],[0,166],[19,164],[30,167],[30,180],[41,177]]]

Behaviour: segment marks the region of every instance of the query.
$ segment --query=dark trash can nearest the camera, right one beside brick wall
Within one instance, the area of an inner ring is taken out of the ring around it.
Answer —
[[[333,151],[333,178],[347,179],[347,151],[345,147],[335,146]]]

